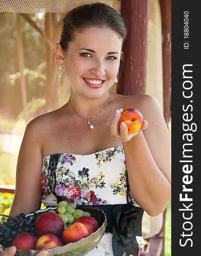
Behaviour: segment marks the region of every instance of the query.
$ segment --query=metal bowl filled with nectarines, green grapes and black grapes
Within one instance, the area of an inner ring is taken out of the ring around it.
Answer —
[[[7,218],[0,224],[0,244],[3,250],[16,246],[17,256],[43,249],[48,256],[83,256],[96,247],[106,225],[106,214],[98,207],[61,201],[57,207]]]

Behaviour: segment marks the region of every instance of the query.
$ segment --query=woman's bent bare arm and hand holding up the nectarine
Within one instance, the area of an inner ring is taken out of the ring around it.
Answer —
[[[120,125],[120,135],[132,195],[149,215],[156,216],[164,211],[171,198],[170,138],[158,101],[148,95],[138,99],[135,108],[143,114],[148,127],[128,134],[127,125],[124,129]],[[110,131],[115,122],[114,117]]]

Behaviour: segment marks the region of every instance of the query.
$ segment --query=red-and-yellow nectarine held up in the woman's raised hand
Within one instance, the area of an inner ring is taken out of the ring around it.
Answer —
[[[143,124],[143,116],[135,108],[128,108],[121,113],[118,126],[120,127],[121,122],[125,122],[128,126],[128,134],[132,134],[139,131]]]

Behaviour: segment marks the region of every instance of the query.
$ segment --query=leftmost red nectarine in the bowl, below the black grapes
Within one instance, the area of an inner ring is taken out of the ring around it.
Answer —
[[[12,246],[19,250],[35,250],[36,237],[29,232],[22,232],[12,241]]]

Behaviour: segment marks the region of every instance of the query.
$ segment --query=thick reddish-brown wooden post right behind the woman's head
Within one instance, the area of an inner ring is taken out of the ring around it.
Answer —
[[[121,1],[121,15],[126,20],[128,35],[123,45],[124,62],[120,67],[117,93],[144,94],[146,91],[149,0]]]

